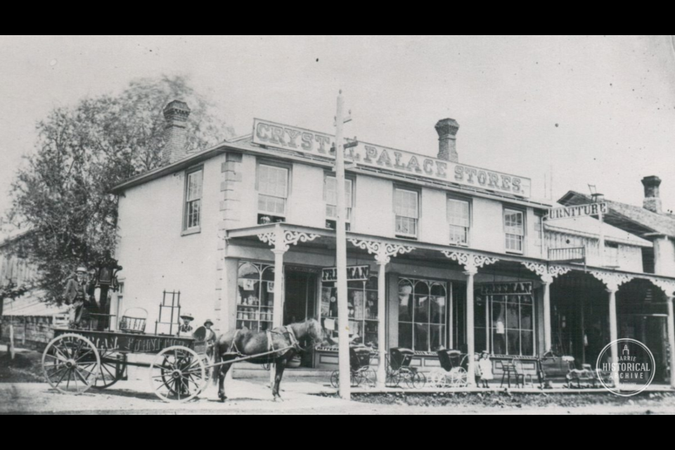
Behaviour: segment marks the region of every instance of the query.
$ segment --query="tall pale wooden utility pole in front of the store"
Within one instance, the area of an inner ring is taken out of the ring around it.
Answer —
[[[347,309],[347,200],[345,199],[345,147],[342,127],[345,120],[345,99],[342,90],[338,95],[338,111],[335,115],[335,181],[338,185],[338,221],[335,226],[336,266],[338,268],[338,361],[340,364],[340,397],[352,399],[351,377],[349,376],[349,310]],[[382,326],[380,324],[380,326]]]

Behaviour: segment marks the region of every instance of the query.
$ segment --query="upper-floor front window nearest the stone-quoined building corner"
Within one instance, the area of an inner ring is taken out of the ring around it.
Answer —
[[[287,214],[288,169],[258,166],[258,213],[261,223],[283,221]]]

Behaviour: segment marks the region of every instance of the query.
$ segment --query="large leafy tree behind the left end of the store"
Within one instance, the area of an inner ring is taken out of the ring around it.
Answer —
[[[93,265],[117,242],[117,198],[110,188],[161,165],[165,120],[174,99],[188,103],[187,150],[233,134],[185,77],[137,79],[118,95],[55,108],[37,124],[37,141],[12,185],[8,218],[31,232],[16,252],[37,264],[37,284],[60,303],[76,266]]]

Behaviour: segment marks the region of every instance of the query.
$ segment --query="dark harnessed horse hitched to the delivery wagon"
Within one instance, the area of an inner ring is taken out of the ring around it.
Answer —
[[[307,319],[304,322],[291,323],[290,325],[274,328],[273,330],[251,331],[248,328],[240,330],[231,330],[228,333],[220,335],[214,345],[214,364],[220,364],[233,359],[252,356],[246,361],[253,364],[274,363],[276,374],[274,376],[274,385],[272,386],[272,397],[274,401],[281,400],[279,394],[279,385],[281,376],[286,363],[293,359],[298,352],[302,352],[300,342],[311,340],[313,344],[319,345],[323,338],[323,329],[321,323],[316,319]],[[271,342],[270,342],[271,340]],[[274,350],[278,349],[278,352]],[[255,355],[273,352],[268,355]],[[224,382],[227,371],[232,364],[221,364],[218,370],[218,398],[220,401],[227,399],[225,395]],[[215,377],[214,377],[215,380]]]

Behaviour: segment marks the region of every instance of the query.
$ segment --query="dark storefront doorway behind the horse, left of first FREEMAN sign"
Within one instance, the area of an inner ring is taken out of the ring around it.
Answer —
[[[285,299],[283,304],[283,324],[302,322],[304,319],[316,317],[316,283],[317,275],[307,271],[286,269]],[[306,342],[300,345],[307,347]],[[309,346],[311,347],[311,345]],[[311,351],[302,355],[302,367],[311,367],[313,355]]]

